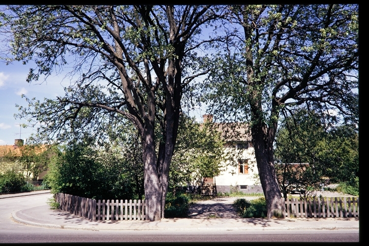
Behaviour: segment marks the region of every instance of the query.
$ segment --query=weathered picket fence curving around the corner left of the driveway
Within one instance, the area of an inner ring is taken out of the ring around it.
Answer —
[[[148,200],[98,200],[64,193],[56,194],[62,211],[91,220],[147,220]]]

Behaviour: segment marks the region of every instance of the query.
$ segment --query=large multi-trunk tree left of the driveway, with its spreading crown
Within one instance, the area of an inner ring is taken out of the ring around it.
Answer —
[[[30,107],[21,107],[20,116],[42,123],[39,133],[59,140],[78,137],[80,129],[103,131],[119,117],[130,120],[142,140],[149,219],[160,219],[181,98],[206,72],[197,66],[205,60],[194,54],[201,27],[217,12],[198,5],[7,6],[0,23],[9,41],[8,62],[34,61],[28,82],[59,69],[69,69],[71,81],[62,97],[28,99]]]

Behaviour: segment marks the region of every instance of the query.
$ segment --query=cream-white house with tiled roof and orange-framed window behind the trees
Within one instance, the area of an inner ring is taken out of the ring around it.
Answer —
[[[212,115],[204,115],[204,122],[212,121]],[[246,124],[214,123],[216,130],[225,140],[224,152],[229,156],[225,170],[218,176],[204,178],[202,192],[228,192],[232,190],[244,193],[263,193],[258,176],[251,135]]]

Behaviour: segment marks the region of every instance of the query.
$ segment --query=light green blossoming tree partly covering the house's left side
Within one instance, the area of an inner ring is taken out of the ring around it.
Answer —
[[[196,123],[182,114],[177,144],[170,168],[169,187],[196,184],[203,177],[214,177],[222,170],[223,142],[211,124]]]

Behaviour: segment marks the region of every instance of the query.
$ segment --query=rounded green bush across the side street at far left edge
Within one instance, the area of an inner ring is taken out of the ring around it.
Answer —
[[[30,191],[22,174],[6,171],[0,174],[0,193]]]

